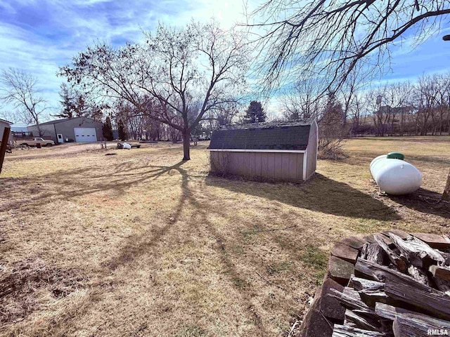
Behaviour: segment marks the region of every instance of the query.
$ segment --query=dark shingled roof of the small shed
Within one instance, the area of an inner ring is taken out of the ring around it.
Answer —
[[[306,150],[311,121],[253,123],[214,131],[210,150]]]

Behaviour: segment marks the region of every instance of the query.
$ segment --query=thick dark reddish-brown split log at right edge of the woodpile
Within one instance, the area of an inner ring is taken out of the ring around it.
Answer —
[[[424,310],[429,315],[449,320],[450,319],[450,298],[442,291],[438,291],[417,282],[397,282],[397,280],[387,280],[385,293],[396,300],[414,305]]]

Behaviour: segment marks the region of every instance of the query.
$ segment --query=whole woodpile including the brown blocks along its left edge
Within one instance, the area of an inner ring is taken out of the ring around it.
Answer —
[[[335,245],[297,336],[449,335],[449,237],[392,230]]]

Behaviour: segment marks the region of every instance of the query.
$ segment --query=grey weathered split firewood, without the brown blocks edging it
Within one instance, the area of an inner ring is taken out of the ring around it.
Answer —
[[[345,307],[332,336],[450,335],[450,239],[427,235],[371,236],[347,286],[328,293]]]

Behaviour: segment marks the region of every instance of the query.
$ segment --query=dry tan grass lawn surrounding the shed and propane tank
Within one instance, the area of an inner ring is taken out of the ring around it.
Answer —
[[[400,151],[442,192],[450,138],[349,140],[308,183],[208,176],[205,143],[7,154],[1,336],[285,336],[333,242],[388,228],[449,233],[450,211],[379,195],[368,164]],[[273,231],[267,231],[275,229]]]

